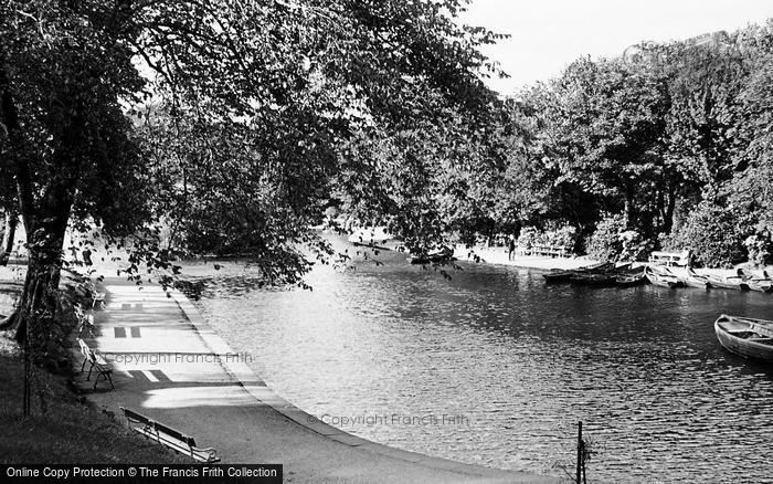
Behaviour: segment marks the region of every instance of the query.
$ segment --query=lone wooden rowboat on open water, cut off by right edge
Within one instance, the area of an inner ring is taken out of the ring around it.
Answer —
[[[721,315],[714,322],[719,343],[744,358],[773,361],[773,322]]]

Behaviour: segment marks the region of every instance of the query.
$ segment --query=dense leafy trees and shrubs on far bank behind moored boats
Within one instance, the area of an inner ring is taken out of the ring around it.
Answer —
[[[659,248],[709,266],[767,262],[772,52],[767,23],[579,59],[523,91],[508,106],[530,129],[510,141],[493,222],[571,223],[600,259]]]

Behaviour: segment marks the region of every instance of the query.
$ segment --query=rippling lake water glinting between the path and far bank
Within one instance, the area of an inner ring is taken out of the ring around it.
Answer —
[[[773,482],[773,370],[713,335],[720,313],[773,319],[773,295],[460,265],[325,267],[314,291],[232,267],[197,304],[277,393],[380,443],[560,476],[583,421],[592,481]]]

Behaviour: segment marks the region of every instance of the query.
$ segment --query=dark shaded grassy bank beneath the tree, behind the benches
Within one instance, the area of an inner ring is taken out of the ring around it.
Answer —
[[[67,388],[65,377],[36,370],[33,417],[22,419],[24,366],[11,335],[0,332],[0,463],[186,463],[128,430],[123,415],[99,412]]]

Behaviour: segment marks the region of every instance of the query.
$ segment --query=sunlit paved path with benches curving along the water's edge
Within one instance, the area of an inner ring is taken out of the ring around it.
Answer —
[[[113,361],[116,389],[100,382],[89,399],[117,418],[118,407],[136,410],[215,448],[225,463],[284,464],[285,482],[559,482],[404,452],[321,423],[266,387],[180,293],[119,280],[103,286],[91,345]],[[91,391],[83,380],[76,385]]]

